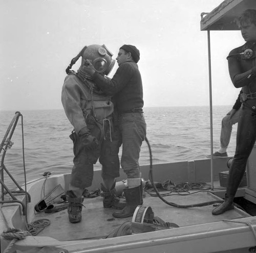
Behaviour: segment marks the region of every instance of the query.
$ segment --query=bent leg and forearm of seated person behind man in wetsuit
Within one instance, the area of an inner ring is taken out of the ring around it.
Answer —
[[[236,124],[240,117],[240,107],[242,105],[240,101],[240,91],[236,103],[234,103],[233,108],[227,113],[225,117],[223,117],[221,121],[221,147],[218,151],[213,154],[214,158],[227,158],[227,147],[230,141],[231,133],[232,133],[232,126]],[[207,156],[210,158],[210,155]]]

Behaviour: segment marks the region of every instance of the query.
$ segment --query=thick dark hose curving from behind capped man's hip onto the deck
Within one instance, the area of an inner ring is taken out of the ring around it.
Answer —
[[[189,207],[205,207],[205,206],[210,206],[216,203],[223,203],[223,200],[214,200],[214,201],[208,201],[208,202],[204,202],[204,203],[199,203],[199,204],[194,204],[194,205],[178,205],[172,202],[168,202],[167,200],[165,200],[161,194],[158,192],[156,185],[154,183],[153,180],[153,163],[152,163],[152,151],[151,151],[151,146],[150,143],[148,142],[147,138],[145,137],[145,141],[147,143],[148,149],[150,150],[150,172],[148,173],[150,182],[157,194],[157,196],[167,205],[172,206],[172,207],[177,207],[177,208],[189,208]]]

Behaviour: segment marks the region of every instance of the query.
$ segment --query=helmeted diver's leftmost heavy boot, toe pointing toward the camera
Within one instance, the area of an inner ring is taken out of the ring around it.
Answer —
[[[72,190],[70,190],[70,191],[67,191],[67,201],[69,203],[69,206],[68,206],[69,221],[71,223],[80,222],[82,220],[83,196],[77,197],[75,193]]]

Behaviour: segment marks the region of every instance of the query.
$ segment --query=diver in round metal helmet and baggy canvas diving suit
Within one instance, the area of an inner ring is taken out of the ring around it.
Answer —
[[[105,45],[85,46],[66,69],[68,75],[62,87],[61,102],[74,127],[70,138],[75,156],[67,191],[71,223],[81,221],[83,193],[92,185],[93,165],[98,159],[102,165],[103,207],[111,208],[119,203],[115,194],[115,179],[119,176],[121,141],[114,126],[114,105],[111,97],[97,88],[90,75],[84,72],[85,59],[89,59],[99,75],[108,75],[115,64],[112,56]],[[71,68],[80,57],[81,65],[75,72]]]

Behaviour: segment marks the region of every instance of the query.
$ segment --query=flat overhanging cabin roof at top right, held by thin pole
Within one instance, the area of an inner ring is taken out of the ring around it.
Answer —
[[[256,9],[256,0],[225,0],[202,18],[201,31],[239,30],[235,19],[246,9]]]

